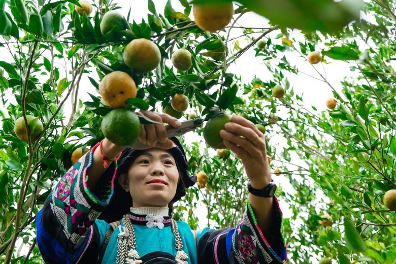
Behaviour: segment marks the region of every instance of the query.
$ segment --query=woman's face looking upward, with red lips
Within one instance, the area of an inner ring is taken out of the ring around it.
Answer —
[[[136,158],[126,180],[133,207],[168,207],[176,193],[179,171],[169,151],[151,148]]]

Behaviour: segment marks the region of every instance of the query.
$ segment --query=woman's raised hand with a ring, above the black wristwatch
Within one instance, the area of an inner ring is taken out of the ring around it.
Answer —
[[[256,188],[266,187],[271,181],[271,171],[265,136],[242,116],[234,115],[231,121],[220,131],[224,145],[242,160],[251,184]]]

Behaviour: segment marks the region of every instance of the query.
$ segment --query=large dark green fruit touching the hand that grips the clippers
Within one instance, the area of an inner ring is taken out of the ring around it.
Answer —
[[[132,145],[141,132],[139,117],[125,108],[113,109],[102,120],[102,132],[118,146]]]

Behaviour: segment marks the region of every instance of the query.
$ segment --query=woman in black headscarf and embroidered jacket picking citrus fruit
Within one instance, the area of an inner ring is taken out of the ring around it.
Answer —
[[[160,123],[177,119],[139,113]],[[47,263],[282,263],[282,213],[273,191],[265,138],[240,116],[221,130],[249,177],[249,203],[236,228],[194,232],[172,219],[173,203],[196,177],[163,125],[142,125],[144,150],[104,139],[60,179],[37,215],[37,243]],[[118,162],[117,162],[118,160]]]

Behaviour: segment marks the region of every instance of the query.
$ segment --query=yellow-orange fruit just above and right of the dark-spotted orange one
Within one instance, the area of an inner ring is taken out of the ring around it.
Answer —
[[[126,45],[123,58],[129,68],[148,73],[158,67],[161,52],[151,40],[135,39]]]

